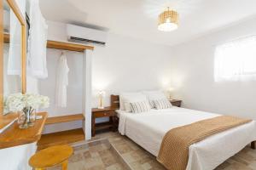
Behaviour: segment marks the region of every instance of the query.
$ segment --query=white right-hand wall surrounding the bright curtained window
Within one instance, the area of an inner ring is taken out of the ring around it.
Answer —
[[[173,47],[172,86],[183,106],[256,120],[256,82],[214,82],[214,49],[237,37],[256,34],[256,19]],[[256,56],[255,56],[256,57]]]

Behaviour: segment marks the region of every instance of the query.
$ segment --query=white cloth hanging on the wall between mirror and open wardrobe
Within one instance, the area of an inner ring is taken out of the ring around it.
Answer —
[[[27,74],[35,78],[48,77],[46,45],[48,26],[41,14],[38,0],[30,1]]]

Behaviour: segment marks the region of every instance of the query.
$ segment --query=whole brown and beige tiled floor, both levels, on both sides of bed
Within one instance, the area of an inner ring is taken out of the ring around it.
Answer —
[[[143,150],[136,143],[132,142],[119,133],[101,133],[93,139],[108,139],[113,147],[118,150],[125,162],[134,170],[165,170],[155,157]],[[112,153],[112,154],[111,154]],[[56,168],[51,168],[56,169]],[[69,170],[119,170],[125,169],[119,158],[114,156],[108,144],[101,146],[90,145],[87,149],[76,148],[75,154],[69,160]],[[249,147],[241,150],[236,156],[224,161],[216,170],[256,170],[256,150]]]

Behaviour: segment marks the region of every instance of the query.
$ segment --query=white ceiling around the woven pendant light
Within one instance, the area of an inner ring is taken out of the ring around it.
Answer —
[[[167,6],[180,15],[176,31],[157,30],[157,16]],[[256,17],[255,0],[41,0],[40,7],[46,20],[166,45]]]

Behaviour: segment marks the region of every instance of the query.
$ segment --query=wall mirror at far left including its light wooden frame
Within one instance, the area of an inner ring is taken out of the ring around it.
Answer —
[[[25,61],[26,21],[15,0],[3,0],[3,100],[26,92]],[[3,114],[7,113],[3,107]]]

